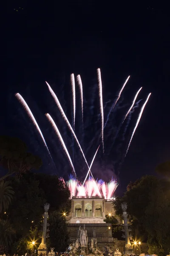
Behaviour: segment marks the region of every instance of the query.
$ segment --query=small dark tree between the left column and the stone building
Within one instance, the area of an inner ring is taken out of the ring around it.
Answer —
[[[56,251],[65,251],[68,241],[67,223],[60,212],[54,211],[49,216],[50,247],[55,247]]]

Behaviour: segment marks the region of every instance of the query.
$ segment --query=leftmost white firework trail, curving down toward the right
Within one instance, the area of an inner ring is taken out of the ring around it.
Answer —
[[[42,135],[42,131],[40,130],[39,125],[37,124],[37,121],[35,120],[35,117],[33,116],[33,113],[31,112],[31,109],[28,107],[25,99],[23,99],[23,97],[20,95],[20,93],[15,93],[15,97],[17,98],[17,100],[21,103],[21,105],[23,106],[23,108],[26,110],[26,113],[28,114],[29,118],[31,119],[31,121],[34,123],[35,127],[37,128],[37,131],[39,132],[43,143],[45,144],[45,147],[48,150],[48,153],[50,154],[50,151],[48,149],[48,146],[45,142],[44,136]],[[50,154],[51,156],[51,154]],[[52,158],[52,157],[51,157]]]

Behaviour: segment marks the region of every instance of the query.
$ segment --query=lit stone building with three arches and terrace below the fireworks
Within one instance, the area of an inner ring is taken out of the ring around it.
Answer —
[[[67,216],[69,243],[79,237],[79,226],[85,224],[88,241],[95,237],[100,250],[114,251],[117,239],[112,237],[111,224],[104,222],[105,215],[115,215],[112,206],[112,201],[104,196],[73,196]]]

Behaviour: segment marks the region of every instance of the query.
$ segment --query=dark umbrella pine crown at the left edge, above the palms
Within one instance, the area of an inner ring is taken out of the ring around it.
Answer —
[[[31,169],[39,169],[42,165],[40,157],[27,152],[22,140],[8,136],[0,136],[0,157],[1,166],[8,170],[0,180],[14,173],[20,176]]]

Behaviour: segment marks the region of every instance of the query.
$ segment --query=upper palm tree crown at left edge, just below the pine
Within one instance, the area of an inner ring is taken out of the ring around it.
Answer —
[[[0,213],[8,209],[14,195],[14,191],[9,184],[9,181],[0,181]]]

